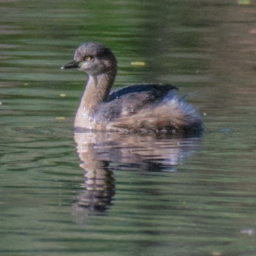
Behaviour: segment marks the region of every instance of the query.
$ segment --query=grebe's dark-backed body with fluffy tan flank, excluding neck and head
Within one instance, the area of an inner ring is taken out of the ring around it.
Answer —
[[[172,84],[137,84],[113,90],[99,105],[95,118],[108,129],[122,132],[195,133],[202,124]]]

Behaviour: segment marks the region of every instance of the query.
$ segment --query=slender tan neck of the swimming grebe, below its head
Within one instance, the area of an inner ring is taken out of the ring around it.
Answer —
[[[115,74],[89,76],[78,111],[82,111],[88,118],[93,118],[97,106],[108,99],[114,81]]]

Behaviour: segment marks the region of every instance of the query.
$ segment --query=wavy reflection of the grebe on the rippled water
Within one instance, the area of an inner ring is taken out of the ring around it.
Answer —
[[[157,138],[115,132],[76,131],[74,140],[84,169],[83,190],[73,214],[102,214],[115,195],[113,171],[175,172],[195,152],[200,138]]]

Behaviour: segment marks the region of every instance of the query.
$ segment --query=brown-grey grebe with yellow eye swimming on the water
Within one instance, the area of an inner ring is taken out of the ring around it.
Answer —
[[[88,74],[74,120],[75,129],[195,136],[202,117],[172,84],[135,84],[111,90],[117,73],[113,52],[97,42],[81,44],[61,69]]]

